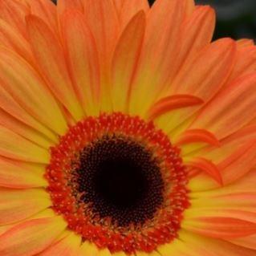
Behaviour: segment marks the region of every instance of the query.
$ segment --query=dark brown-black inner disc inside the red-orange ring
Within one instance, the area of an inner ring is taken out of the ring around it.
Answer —
[[[129,137],[103,136],[83,149],[76,170],[85,204],[112,224],[144,224],[163,201],[164,182],[156,158]]]

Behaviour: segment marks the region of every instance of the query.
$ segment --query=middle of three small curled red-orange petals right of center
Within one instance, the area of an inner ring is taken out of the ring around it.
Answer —
[[[216,136],[214,136],[212,132],[202,129],[186,130],[183,134],[181,134],[176,144],[182,145],[197,142],[206,143],[213,146],[220,146],[220,141],[217,140]]]

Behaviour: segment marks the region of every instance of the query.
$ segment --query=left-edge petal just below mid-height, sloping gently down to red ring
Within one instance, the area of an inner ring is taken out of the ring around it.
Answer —
[[[48,164],[49,152],[0,125],[0,155],[21,161]]]

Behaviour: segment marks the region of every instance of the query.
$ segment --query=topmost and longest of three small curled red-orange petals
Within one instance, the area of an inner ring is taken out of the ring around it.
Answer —
[[[203,104],[203,100],[193,95],[172,95],[153,104],[148,111],[148,119],[153,120],[177,108],[187,108]]]

